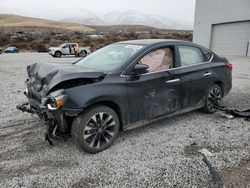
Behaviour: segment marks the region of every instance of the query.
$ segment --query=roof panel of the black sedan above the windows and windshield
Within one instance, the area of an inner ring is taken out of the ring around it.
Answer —
[[[173,39],[140,39],[140,40],[122,41],[122,42],[118,42],[118,43],[137,44],[137,45],[146,45],[146,46],[148,46],[148,45],[164,43],[164,42],[191,43],[189,41],[173,40]]]

